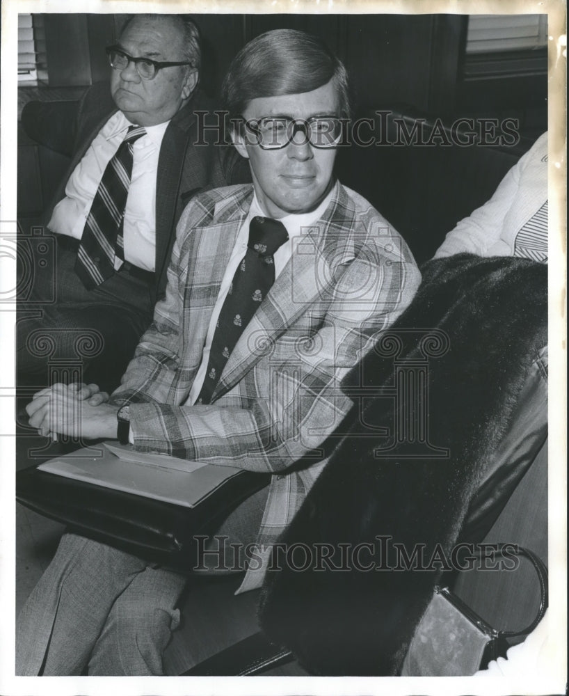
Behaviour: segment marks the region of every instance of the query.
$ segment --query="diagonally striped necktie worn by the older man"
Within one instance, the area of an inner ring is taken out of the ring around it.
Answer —
[[[87,290],[111,278],[115,256],[125,260],[122,223],[132,173],[132,144],[145,133],[143,127],[129,127],[93,198],[75,262],[75,272]]]

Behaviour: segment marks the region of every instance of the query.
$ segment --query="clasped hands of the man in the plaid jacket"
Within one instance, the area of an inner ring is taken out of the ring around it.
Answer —
[[[31,427],[44,436],[59,433],[75,438],[114,438],[117,407],[106,404],[108,398],[96,385],[54,384],[36,393],[26,411]]]

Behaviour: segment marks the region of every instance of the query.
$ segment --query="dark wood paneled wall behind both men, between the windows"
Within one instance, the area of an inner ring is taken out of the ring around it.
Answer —
[[[346,64],[358,104],[454,104],[460,15],[196,15],[204,38],[202,85],[215,95],[233,56],[269,29],[319,35]],[[89,85],[109,72],[104,47],[125,15],[45,15],[50,86]]]

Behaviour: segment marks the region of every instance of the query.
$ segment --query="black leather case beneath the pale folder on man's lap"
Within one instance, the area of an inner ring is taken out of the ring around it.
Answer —
[[[58,459],[73,456],[64,455]],[[195,565],[193,536],[214,532],[269,474],[239,470],[195,507],[103,487],[36,466],[16,475],[16,499],[70,531],[179,571]]]

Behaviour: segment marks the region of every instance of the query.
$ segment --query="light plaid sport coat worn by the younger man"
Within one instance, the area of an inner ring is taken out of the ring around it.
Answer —
[[[321,444],[352,406],[342,378],[408,306],[420,280],[401,236],[337,182],[321,219],[293,240],[211,404],[186,406],[251,200],[245,184],[201,193],[186,207],[166,297],[112,396],[131,404],[137,450],[272,474],[257,537],[261,562],[250,564],[240,591],[262,583],[270,544],[326,464]]]

